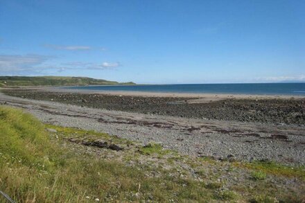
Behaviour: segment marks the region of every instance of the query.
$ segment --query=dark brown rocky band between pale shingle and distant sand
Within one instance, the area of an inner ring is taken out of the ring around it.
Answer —
[[[107,94],[68,94],[51,91],[8,91],[10,96],[36,100],[52,100],[80,105],[141,114],[208,118],[222,121],[256,123],[285,123],[305,125],[305,98],[225,99],[198,103],[200,98],[116,96]]]

